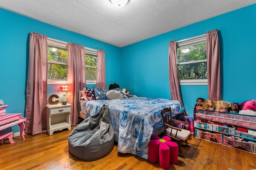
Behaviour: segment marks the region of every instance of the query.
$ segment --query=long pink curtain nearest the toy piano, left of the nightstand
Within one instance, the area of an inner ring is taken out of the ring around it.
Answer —
[[[25,133],[46,130],[47,36],[30,33]]]

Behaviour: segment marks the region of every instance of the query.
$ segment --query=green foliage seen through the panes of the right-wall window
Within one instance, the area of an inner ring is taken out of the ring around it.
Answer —
[[[190,49],[190,51],[183,53],[183,49]],[[177,63],[182,63],[177,65],[179,80],[207,79],[207,63],[200,60],[206,60],[206,43],[178,48]]]

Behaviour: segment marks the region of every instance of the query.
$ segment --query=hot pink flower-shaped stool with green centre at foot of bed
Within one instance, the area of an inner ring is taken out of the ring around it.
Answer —
[[[167,169],[171,164],[178,163],[178,144],[171,141],[171,138],[164,136],[162,139],[157,135],[152,135],[148,144],[148,160],[152,163],[159,161],[163,169]]]

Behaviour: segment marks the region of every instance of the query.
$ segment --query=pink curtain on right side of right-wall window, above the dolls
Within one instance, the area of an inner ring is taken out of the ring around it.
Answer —
[[[218,30],[206,32],[206,56],[208,69],[208,98],[221,100],[220,96],[220,45]]]

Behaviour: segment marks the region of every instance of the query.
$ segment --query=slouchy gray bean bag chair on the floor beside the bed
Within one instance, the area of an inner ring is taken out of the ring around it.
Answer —
[[[105,156],[114,147],[114,130],[108,106],[82,121],[68,136],[68,150],[82,160]]]

